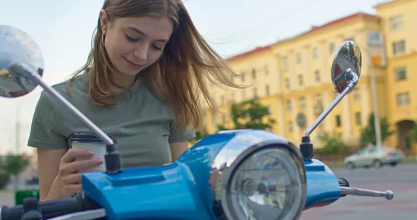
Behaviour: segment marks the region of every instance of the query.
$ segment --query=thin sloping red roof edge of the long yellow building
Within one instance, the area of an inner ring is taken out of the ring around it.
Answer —
[[[309,34],[309,33],[313,33],[315,31],[319,31],[319,30],[322,30],[324,28],[329,28],[330,26],[335,26],[335,25],[341,24],[343,22],[347,22],[347,21],[350,21],[352,19],[355,19],[357,17],[377,18],[376,15],[370,15],[370,14],[364,13],[364,12],[357,12],[357,13],[355,13],[353,15],[348,15],[346,17],[342,17],[340,19],[333,20],[332,22],[328,22],[326,24],[323,24],[322,26],[311,26],[311,29],[309,31],[306,31],[306,32],[301,33],[299,35],[295,35],[294,37],[290,37],[290,38],[287,38],[285,40],[281,40],[279,42],[275,42],[274,44],[278,44],[278,43],[281,43],[281,42],[286,42],[288,40],[293,40],[293,39],[295,39],[297,37],[301,37],[302,35],[306,35],[306,34]],[[227,58],[227,61],[238,60],[240,58],[244,58],[246,56],[250,56],[250,55],[255,54],[255,53],[260,53],[262,51],[266,51],[266,50],[270,49],[271,46],[272,46],[272,44],[271,45],[268,45],[268,46],[257,46],[255,49],[253,49],[251,51],[247,51],[245,53],[240,53],[240,54],[238,54],[236,56],[232,56],[230,58]]]

